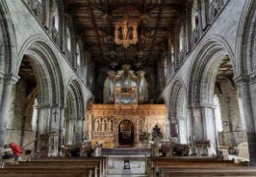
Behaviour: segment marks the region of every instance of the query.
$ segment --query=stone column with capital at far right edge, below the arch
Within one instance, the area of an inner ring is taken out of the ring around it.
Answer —
[[[235,81],[238,91],[238,102],[240,107],[240,116],[244,119],[250,155],[250,164],[256,165],[256,129],[253,118],[253,106],[250,96],[250,89],[247,80],[241,78]]]

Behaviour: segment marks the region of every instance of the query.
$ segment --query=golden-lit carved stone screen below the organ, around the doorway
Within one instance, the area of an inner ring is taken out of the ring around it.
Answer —
[[[90,114],[90,115],[89,115]],[[137,107],[115,104],[93,104],[88,111],[88,121],[85,127],[92,130],[88,137],[92,137],[92,145],[102,142],[103,148],[115,148],[120,146],[118,135],[120,124],[124,120],[132,123],[133,146],[143,148],[152,139],[152,130],[158,125],[161,137],[165,138],[166,110],[164,104],[142,104]],[[144,135],[144,136],[143,136]],[[142,138],[143,137],[143,138]]]

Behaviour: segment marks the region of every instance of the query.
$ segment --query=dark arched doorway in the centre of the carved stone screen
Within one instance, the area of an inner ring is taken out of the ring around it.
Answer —
[[[118,143],[119,146],[134,145],[134,125],[129,120],[123,120],[118,126]]]

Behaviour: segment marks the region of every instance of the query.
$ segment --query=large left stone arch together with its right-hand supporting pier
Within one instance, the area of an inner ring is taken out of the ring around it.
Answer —
[[[37,91],[33,94],[33,98],[36,97],[37,102],[36,130],[31,141],[39,138],[39,142],[34,142],[35,148],[33,150],[44,149],[40,150],[42,155],[58,155],[61,153],[61,122],[64,100],[61,96],[63,95],[63,82],[60,68],[55,55],[46,42],[43,40],[28,41],[30,42],[24,45],[24,50],[20,53],[19,67],[16,72],[17,75],[21,74],[20,71],[23,70],[23,67],[30,66],[36,81]],[[25,74],[21,75],[21,77],[24,76]],[[29,106],[32,107],[32,104]],[[16,115],[13,115],[13,119],[10,121],[15,121],[15,117]],[[51,148],[47,147],[49,139],[54,139],[55,142]]]

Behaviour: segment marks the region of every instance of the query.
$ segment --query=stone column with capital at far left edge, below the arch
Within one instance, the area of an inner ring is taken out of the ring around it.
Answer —
[[[0,154],[2,154],[5,136],[7,119],[9,117],[9,111],[12,101],[12,89],[18,82],[19,77],[15,75],[8,75],[4,78],[2,87],[2,103],[0,107]],[[0,163],[2,162],[2,155],[0,155]]]

